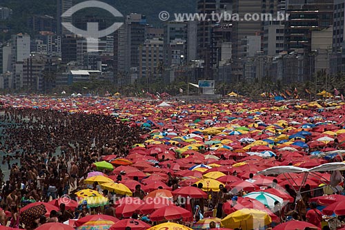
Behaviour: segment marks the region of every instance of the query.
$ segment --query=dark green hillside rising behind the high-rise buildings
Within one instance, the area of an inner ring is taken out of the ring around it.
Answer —
[[[79,3],[82,0],[75,0],[74,3]],[[137,12],[146,15],[148,23],[161,26],[159,21],[159,12],[166,10],[170,13],[174,12],[195,12],[195,0],[103,0],[106,3],[114,6],[123,15],[128,15],[130,12]],[[0,21],[0,40],[8,39],[11,34],[17,32],[31,33],[27,28],[27,20],[31,15],[50,15],[56,17],[56,0],[0,0],[0,6],[6,6],[13,10],[13,15],[10,20]],[[90,13],[91,12],[91,13]],[[88,10],[88,15],[95,16],[107,15],[104,10]],[[79,13],[79,15],[81,15]],[[3,28],[10,30],[5,32]]]

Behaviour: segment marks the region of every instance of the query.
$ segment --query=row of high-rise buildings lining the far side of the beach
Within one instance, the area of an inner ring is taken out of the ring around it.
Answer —
[[[3,2],[0,88],[176,95],[188,91],[187,83],[212,80],[219,95],[294,88],[309,92],[304,97],[334,88],[344,93],[342,0],[151,1],[43,1],[26,16],[19,16],[22,5]],[[88,25],[109,32],[87,35]]]

